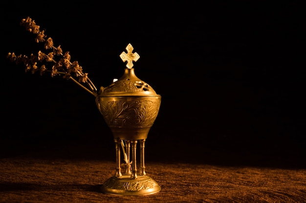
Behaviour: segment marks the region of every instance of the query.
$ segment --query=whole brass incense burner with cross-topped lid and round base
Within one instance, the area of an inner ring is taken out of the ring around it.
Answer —
[[[145,141],[159,111],[161,96],[134,73],[132,61],[139,55],[126,47],[121,59],[127,61],[124,74],[108,87],[101,87],[96,104],[109,126],[116,147],[116,172],[101,187],[102,191],[117,195],[149,195],[161,187],[145,172]],[[140,167],[136,165],[136,148],[140,144]],[[121,149],[125,171],[122,171]],[[131,154],[131,156],[130,156]],[[131,158],[131,160],[130,160]]]

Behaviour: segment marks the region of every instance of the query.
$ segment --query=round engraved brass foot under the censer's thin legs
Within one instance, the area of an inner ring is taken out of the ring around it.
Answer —
[[[111,177],[102,186],[102,192],[114,195],[151,195],[161,190],[161,187],[149,176],[131,175]]]

